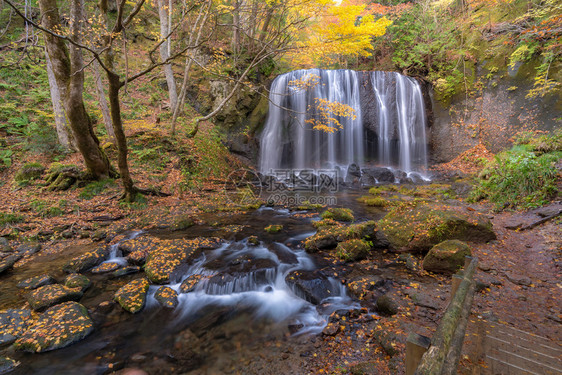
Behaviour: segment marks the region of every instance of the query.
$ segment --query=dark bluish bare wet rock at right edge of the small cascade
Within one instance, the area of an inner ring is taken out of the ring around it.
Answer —
[[[323,299],[336,295],[334,285],[320,271],[293,271],[285,277],[293,292],[310,303],[318,305]]]

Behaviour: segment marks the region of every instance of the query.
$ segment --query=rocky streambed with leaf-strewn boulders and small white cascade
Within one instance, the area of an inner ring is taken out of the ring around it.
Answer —
[[[431,330],[446,303],[439,274],[470,253],[461,240],[495,234],[487,215],[454,201],[390,189],[382,208],[357,203],[362,193],[338,196],[353,210],[261,207],[108,227],[51,255],[4,241],[0,372],[403,371],[397,317],[421,308]]]

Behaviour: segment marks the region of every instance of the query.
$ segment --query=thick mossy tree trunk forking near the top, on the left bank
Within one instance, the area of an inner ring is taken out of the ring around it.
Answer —
[[[60,30],[60,15],[56,0],[39,0],[42,25],[50,30]],[[82,9],[79,0],[71,3],[71,35],[79,40]],[[109,160],[99,147],[90,117],[86,113],[83,100],[84,71],[82,51],[72,46],[70,56],[64,41],[45,33],[47,53],[51,58],[53,73],[63,99],[68,122],[74,134],[78,150],[84,158],[88,173],[92,178],[109,177]]]

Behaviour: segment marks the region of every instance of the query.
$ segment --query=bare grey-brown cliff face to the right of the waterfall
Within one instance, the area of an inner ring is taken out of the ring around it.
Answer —
[[[478,89],[454,96],[450,103],[433,99],[430,156],[433,163],[447,162],[482,143],[496,153],[511,146],[522,131],[550,132],[562,125],[562,95],[527,98],[532,88],[532,64],[490,73],[485,64],[473,74]]]

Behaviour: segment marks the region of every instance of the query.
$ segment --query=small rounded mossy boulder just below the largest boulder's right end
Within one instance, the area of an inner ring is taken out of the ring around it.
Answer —
[[[471,256],[470,247],[459,240],[447,240],[433,246],[423,258],[423,269],[431,272],[454,273]]]

